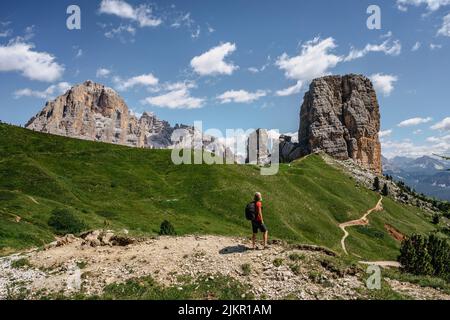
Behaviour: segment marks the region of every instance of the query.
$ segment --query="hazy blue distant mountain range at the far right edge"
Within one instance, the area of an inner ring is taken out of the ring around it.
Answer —
[[[417,159],[382,157],[383,173],[405,182],[417,192],[450,201],[450,161],[428,156]]]

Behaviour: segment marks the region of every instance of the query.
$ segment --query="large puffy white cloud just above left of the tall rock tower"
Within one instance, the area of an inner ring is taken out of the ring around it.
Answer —
[[[289,57],[283,53],[278,57],[275,65],[280,70],[284,70],[288,79],[308,82],[328,74],[331,68],[342,61],[342,57],[331,53],[336,47],[333,38],[324,40],[314,38],[302,45],[299,55]]]

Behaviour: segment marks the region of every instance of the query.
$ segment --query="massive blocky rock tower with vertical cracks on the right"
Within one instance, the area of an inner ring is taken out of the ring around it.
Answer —
[[[361,75],[312,81],[300,112],[301,155],[322,150],[381,173],[380,110],[371,81]]]

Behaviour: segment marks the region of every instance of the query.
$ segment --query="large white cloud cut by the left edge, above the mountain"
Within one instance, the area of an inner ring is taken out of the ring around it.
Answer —
[[[53,82],[64,73],[64,67],[47,52],[34,51],[34,46],[24,42],[10,42],[0,46],[0,72],[20,72],[31,80]]]

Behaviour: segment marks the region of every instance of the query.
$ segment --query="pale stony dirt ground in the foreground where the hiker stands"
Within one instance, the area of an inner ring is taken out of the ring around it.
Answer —
[[[0,300],[17,292],[26,292],[27,299],[79,290],[98,294],[108,284],[143,276],[182,290],[180,278],[217,274],[248,284],[257,299],[367,298],[364,270],[342,266],[338,257],[326,251],[282,243],[273,243],[266,250],[251,250],[250,246],[250,239],[220,236],[131,242],[115,238],[111,232],[94,232],[84,238],[66,236],[44,250],[0,258]],[[417,299],[450,299],[436,289],[426,288],[422,295],[425,289],[419,286],[394,284],[399,292],[412,293]]]

